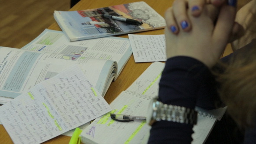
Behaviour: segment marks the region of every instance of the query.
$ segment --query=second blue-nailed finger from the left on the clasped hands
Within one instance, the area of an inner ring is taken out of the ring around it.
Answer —
[[[187,1],[175,0],[173,3],[174,19],[178,23],[179,29],[189,32],[191,29],[190,20],[187,16]]]

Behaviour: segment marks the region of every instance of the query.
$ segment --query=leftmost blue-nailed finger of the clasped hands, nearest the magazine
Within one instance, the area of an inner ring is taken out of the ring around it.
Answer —
[[[168,8],[165,12],[165,21],[167,28],[174,34],[179,33],[177,23],[174,19],[172,7]]]

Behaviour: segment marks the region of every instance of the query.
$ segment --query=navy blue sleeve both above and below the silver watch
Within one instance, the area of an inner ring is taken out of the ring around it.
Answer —
[[[185,56],[167,59],[159,83],[159,100],[165,104],[180,105],[194,109],[197,99],[204,94],[203,88],[213,75],[202,62]],[[207,86],[206,86],[207,85]],[[149,144],[191,143],[193,125],[158,121],[152,125]]]

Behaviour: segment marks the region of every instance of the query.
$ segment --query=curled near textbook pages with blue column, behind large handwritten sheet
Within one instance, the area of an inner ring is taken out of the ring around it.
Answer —
[[[53,53],[0,47],[0,96],[15,98],[37,83],[75,64],[79,65],[92,85],[95,85],[103,96],[105,95],[104,87],[109,85],[106,82],[108,79],[114,79],[117,69],[114,61],[85,57],[66,59],[65,57],[65,55]]]

